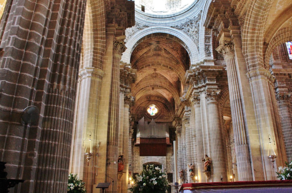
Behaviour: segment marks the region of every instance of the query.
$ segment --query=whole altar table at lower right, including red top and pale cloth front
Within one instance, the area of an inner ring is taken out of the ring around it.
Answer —
[[[240,193],[288,193],[292,192],[292,180],[186,183],[180,187],[180,193],[237,191]]]

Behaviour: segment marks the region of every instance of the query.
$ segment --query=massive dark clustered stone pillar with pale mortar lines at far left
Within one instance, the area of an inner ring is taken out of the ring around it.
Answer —
[[[11,192],[66,192],[85,1],[8,1],[1,20],[0,157]],[[9,16],[9,17],[8,17]],[[20,124],[37,106],[37,123]]]

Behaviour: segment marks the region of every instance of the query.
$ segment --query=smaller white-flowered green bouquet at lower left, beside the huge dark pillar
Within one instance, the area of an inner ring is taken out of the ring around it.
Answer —
[[[70,173],[68,177],[67,192],[69,193],[86,193],[85,182],[77,177],[77,174]]]

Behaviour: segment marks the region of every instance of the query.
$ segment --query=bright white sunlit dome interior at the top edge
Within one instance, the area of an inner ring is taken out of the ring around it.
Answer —
[[[145,13],[150,15],[170,15],[189,8],[195,0],[135,0],[138,10],[145,6]]]

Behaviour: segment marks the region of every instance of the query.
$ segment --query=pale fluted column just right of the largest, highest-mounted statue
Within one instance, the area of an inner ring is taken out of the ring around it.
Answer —
[[[221,176],[227,176],[225,155],[224,155],[224,143],[222,141],[222,131],[220,128],[220,117],[218,110],[218,98],[220,90],[206,91],[206,99],[208,104],[209,115],[209,143],[211,143],[210,153],[208,155],[212,159],[213,171],[211,171],[213,182],[220,182]],[[212,167],[211,167],[212,168]]]

